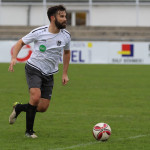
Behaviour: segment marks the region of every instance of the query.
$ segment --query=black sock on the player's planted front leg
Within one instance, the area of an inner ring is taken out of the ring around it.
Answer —
[[[37,106],[28,104],[28,109],[26,111],[26,131],[28,132],[33,131],[36,108]]]

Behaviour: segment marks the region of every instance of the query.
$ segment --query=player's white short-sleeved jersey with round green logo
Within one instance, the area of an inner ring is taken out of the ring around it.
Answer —
[[[44,75],[58,72],[58,64],[63,50],[70,50],[70,34],[61,29],[59,33],[48,31],[49,25],[32,30],[22,38],[25,44],[34,42],[34,49],[27,64],[38,69]]]

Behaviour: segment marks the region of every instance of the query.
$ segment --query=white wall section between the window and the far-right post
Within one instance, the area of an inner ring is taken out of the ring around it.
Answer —
[[[135,6],[99,6],[92,11],[92,25],[135,26]]]

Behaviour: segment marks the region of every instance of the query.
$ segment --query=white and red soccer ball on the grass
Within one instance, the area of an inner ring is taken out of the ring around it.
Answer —
[[[97,123],[93,127],[93,136],[98,141],[106,141],[111,135],[111,128],[106,123]]]

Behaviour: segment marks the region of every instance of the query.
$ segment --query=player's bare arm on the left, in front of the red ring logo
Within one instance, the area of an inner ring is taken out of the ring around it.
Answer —
[[[8,68],[8,71],[10,72],[14,72],[14,68],[13,66],[16,64],[17,62],[17,55],[19,53],[19,51],[21,50],[21,48],[25,45],[25,43],[22,41],[22,39],[20,39],[16,45],[14,46],[14,50],[13,50],[13,54],[12,54],[12,58],[11,58],[11,62]]]

